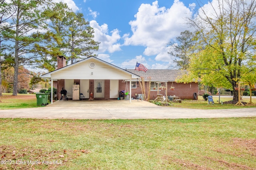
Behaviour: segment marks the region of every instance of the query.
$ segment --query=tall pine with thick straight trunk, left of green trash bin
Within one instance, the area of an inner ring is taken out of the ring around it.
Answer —
[[[43,27],[42,5],[47,3],[45,0],[10,0],[5,10],[6,15],[10,16],[9,24],[12,30],[2,32],[4,38],[8,38],[14,44],[14,84],[12,95],[17,95],[18,91],[18,70],[21,63],[30,64],[33,62],[34,55],[29,55],[32,49],[31,44],[39,41],[40,37],[33,37],[30,32]],[[39,9],[40,6],[40,9]],[[12,51],[10,49],[10,51]]]

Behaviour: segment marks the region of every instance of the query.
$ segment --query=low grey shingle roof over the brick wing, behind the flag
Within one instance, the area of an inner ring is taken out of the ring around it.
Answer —
[[[127,69],[131,73],[144,77],[151,77],[151,81],[175,81],[178,77],[187,73],[186,70],[174,70],[174,69],[149,69],[148,71],[137,71],[134,69]]]

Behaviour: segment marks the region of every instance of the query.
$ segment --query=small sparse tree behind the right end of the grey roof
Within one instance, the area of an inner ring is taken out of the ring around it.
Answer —
[[[194,34],[188,30],[181,32],[176,38],[176,42],[170,42],[168,45],[170,51],[168,54],[176,57],[173,61],[180,69],[187,69],[189,66],[189,56],[194,53]]]

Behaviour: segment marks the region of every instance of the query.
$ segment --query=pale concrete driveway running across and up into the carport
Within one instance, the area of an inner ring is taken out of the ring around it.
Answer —
[[[46,107],[0,110],[0,118],[36,119],[186,119],[256,117],[256,108],[184,109],[159,107],[146,101],[56,101]]]

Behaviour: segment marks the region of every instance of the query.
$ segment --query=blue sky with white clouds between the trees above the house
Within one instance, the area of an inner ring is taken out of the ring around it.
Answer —
[[[136,62],[148,69],[174,69],[168,51],[180,32],[193,31],[186,18],[207,0],[53,0],[81,12],[100,42],[99,59],[122,69]],[[199,2],[199,4],[198,4]]]

